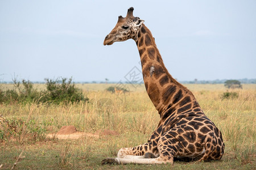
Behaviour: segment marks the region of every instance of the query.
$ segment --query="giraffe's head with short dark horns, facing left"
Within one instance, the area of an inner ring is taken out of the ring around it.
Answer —
[[[112,45],[115,41],[137,40],[139,27],[144,20],[133,16],[133,7],[128,9],[127,15],[123,18],[118,16],[118,22],[112,31],[105,37],[104,45]]]

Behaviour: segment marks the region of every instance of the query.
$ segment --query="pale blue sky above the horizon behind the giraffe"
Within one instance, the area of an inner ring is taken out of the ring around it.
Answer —
[[[135,42],[103,41],[131,6],[177,80],[256,78],[254,0],[0,1],[0,81],[125,80]]]

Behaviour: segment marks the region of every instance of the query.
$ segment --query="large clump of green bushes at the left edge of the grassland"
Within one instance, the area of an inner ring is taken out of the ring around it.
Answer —
[[[22,83],[14,81],[14,89],[3,91],[0,86],[0,103],[75,103],[86,102],[89,99],[82,94],[79,88],[72,83],[72,78],[62,80],[46,79],[46,90],[37,91],[29,80],[22,80]]]

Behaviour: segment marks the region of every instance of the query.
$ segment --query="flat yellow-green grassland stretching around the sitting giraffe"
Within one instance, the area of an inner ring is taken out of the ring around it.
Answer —
[[[222,131],[225,154],[220,161],[101,165],[102,159],[117,156],[119,148],[147,142],[160,117],[143,84],[124,84],[130,90],[125,94],[105,91],[115,84],[77,84],[89,103],[0,105],[0,116],[9,120],[7,125],[0,124],[0,167],[11,169],[16,162],[15,169],[256,169],[256,84],[229,90],[237,95],[226,98],[224,84],[184,85]],[[2,86],[12,88],[8,84]],[[42,84],[35,87],[44,88]],[[119,135],[46,137],[65,125],[90,134],[109,129]]]

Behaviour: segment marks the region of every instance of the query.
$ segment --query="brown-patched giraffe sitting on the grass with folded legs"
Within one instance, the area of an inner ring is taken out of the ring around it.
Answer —
[[[121,148],[106,163],[162,164],[175,159],[220,160],[224,154],[221,131],[204,114],[195,96],[177,82],[164,66],[155,39],[144,20],[133,16],[133,7],[105,37],[104,45],[133,39],[141,57],[144,85],[160,115],[160,121],[143,145]]]

